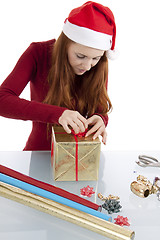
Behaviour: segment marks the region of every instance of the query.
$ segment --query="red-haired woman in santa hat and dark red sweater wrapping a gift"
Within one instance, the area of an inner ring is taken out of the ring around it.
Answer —
[[[0,87],[0,115],[31,120],[24,150],[50,150],[51,125],[71,127],[106,144],[108,56],[116,26],[109,8],[86,2],[73,9],[57,40],[32,43]],[[30,82],[31,101],[19,95]]]

